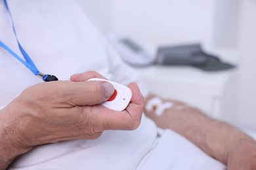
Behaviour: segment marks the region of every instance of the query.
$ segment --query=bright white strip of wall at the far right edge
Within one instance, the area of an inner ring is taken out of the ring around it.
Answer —
[[[256,1],[242,1],[237,124],[256,130]]]

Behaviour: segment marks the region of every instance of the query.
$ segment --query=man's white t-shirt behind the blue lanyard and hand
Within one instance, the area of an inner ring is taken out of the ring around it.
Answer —
[[[18,39],[42,73],[69,80],[75,73],[94,70],[121,84],[135,81],[144,95],[148,93],[135,71],[123,63],[73,1],[8,0],[8,3]],[[0,41],[22,56],[3,0],[0,0]],[[1,109],[41,80],[3,48],[0,61]],[[188,167],[198,168],[200,164],[195,160],[182,159],[184,155],[189,157],[184,154],[189,150],[193,156],[199,156],[201,167],[204,161],[207,166],[223,167],[177,133],[165,131],[161,137],[158,133],[154,122],[142,116],[135,131],[105,131],[96,140],[37,146],[14,161],[10,169],[180,169],[184,161]],[[179,145],[181,141],[186,147]]]

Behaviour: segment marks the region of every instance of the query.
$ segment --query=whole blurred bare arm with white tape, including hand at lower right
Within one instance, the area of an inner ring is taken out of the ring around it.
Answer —
[[[149,95],[146,103],[152,97],[155,96]],[[182,102],[162,101],[173,103],[173,107],[159,116],[154,110],[144,110],[158,127],[177,131],[210,156],[222,161],[228,169],[256,169],[256,143],[251,137],[224,122],[208,118],[200,110]]]

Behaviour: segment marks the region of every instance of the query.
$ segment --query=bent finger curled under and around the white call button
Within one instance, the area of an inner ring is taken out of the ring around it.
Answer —
[[[106,109],[103,106],[93,106],[91,111],[96,116],[102,129],[122,129],[122,130],[133,130],[139,127],[144,98],[142,97],[137,84],[129,84],[129,88],[133,93],[131,102],[127,109],[117,112],[115,110]],[[88,109],[88,108],[87,108]]]

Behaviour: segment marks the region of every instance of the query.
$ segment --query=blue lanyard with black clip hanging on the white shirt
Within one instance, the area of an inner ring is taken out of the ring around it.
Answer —
[[[9,10],[8,4],[7,4],[7,0],[3,0],[3,2],[5,3],[5,7],[7,9],[7,12],[9,13],[9,16],[11,18],[11,22],[12,22],[12,30],[14,32],[14,35],[16,37],[16,41],[18,42],[18,47],[20,48],[20,52],[22,53],[22,56],[24,57],[24,59],[20,58],[17,54],[15,54],[15,52],[13,52],[11,50],[11,48],[9,48],[6,44],[4,44],[3,42],[0,41],[0,46],[2,48],[4,48],[5,50],[7,50],[7,52],[9,52],[14,58],[18,59],[18,61],[20,61],[23,65],[25,65],[26,67],[28,67],[28,69],[30,69],[30,71],[32,71],[32,73],[36,76],[39,76],[40,78],[42,78],[44,81],[48,82],[48,81],[53,81],[53,80],[58,80],[58,78],[56,78],[56,76],[53,75],[44,75],[43,73],[40,73],[37,69],[37,67],[35,66],[35,63],[33,63],[32,59],[30,58],[30,56],[28,56],[27,52],[24,50],[24,48],[20,45],[20,42],[18,41],[18,37],[16,35],[16,30],[14,27],[14,23],[12,20],[12,16],[11,16],[11,12]]]

